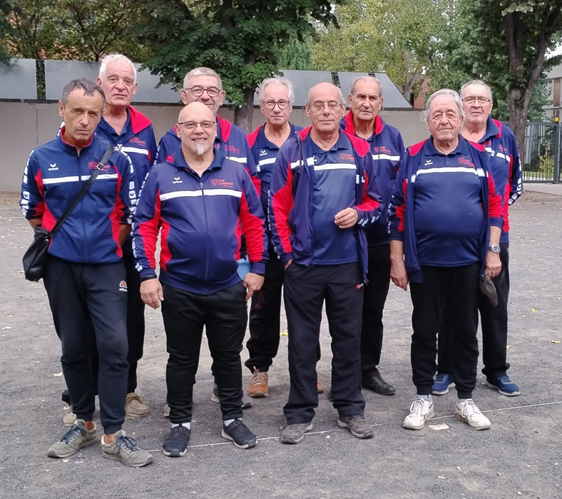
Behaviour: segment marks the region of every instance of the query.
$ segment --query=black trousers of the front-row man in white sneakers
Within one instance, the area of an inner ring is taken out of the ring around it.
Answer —
[[[471,398],[478,365],[478,302],[480,263],[463,267],[422,265],[424,282],[410,283],[412,313],[412,379],[419,395],[430,395],[436,370],[437,331],[441,314],[454,317],[451,374],[459,398]],[[446,298],[446,299],[445,299]]]

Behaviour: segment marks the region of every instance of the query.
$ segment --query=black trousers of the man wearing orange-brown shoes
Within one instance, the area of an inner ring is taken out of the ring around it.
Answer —
[[[252,373],[255,369],[260,369],[260,372],[269,371],[279,350],[284,267],[275,252],[270,251],[270,259],[265,264],[265,280],[262,289],[252,296],[250,339],[246,343],[250,357],[245,361],[245,366]],[[317,348],[317,360],[320,361],[320,341]]]

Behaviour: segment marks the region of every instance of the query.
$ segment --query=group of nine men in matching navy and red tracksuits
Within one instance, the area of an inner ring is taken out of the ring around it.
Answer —
[[[507,215],[521,173],[511,130],[490,117],[488,86],[434,93],[425,111],[431,137],[406,151],[379,115],[382,88],[371,76],[352,84],[347,114],[337,86],[312,87],[304,129],[290,123],[293,84],[267,78],[257,89],[265,125],[246,137],[217,115],[220,76],[195,68],[185,76],[178,123],[158,149],[150,120],[131,106],[136,88],[135,66],[120,54],[103,59],[97,83],[68,83],[60,133],[31,153],[24,173],[24,214],[51,230],[103,168],[53,237],[43,276],[70,406],[70,428],[48,456],[66,458],[97,441],[98,394],[103,456],[137,467],[153,461],[121,429],[126,416],[149,412],[136,394],[144,304],[161,305],[169,354],[166,456],[188,448],[203,329],[222,435],[239,448],[256,445],[242,419],[251,405],[240,361],[250,299],[252,397],[268,394],[285,301],[290,393],[281,441],[298,443],[312,429],[323,391],[316,364],[324,304],[338,424],[372,437],[361,389],[395,393],[378,370],[391,279],[403,289],[410,283],[414,305],[417,398],[404,427],[423,428],[434,416],[432,393],[456,384],[456,416],[489,428],[472,400],[478,311],[486,384],[518,395],[506,374]],[[115,150],[98,165],[108,143]],[[479,289],[486,276],[496,308]]]

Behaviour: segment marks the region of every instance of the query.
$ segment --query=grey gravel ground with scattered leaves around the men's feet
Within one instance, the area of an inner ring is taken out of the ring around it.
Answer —
[[[129,436],[153,451],[155,462],[142,469],[101,458],[98,446],[68,460],[46,456],[64,431],[60,346],[42,282],[23,279],[21,255],[32,234],[16,202],[14,195],[0,195],[0,498],[562,498],[562,343],[554,343],[562,341],[562,197],[526,193],[512,209],[509,374],[522,393],[501,396],[479,375],[474,398],[489,411],[489,431],[473,431],[452,417],[452,392],[436,397],[435,422],[449,429],[402,428],[415,393],[409,366],[412,304],[409,294],[392,286],[381,371],[397,394],[365,393],[374,438],[359,441],[340,430],[336,411],[320,396],[315,430],[298,446],[279,443],[288,394],[282,336],[270,370],[270,396],[245,413],[258,446],[241,451],[220,437],[205,345],[190,451],[181,459],[165,458],[159,450],[168,431],[160,416],[165,338],[160,313],[147,309],[139,391],[152,411],[125,425]],[[329,386],[326,321],[322,353],[319,376]],[[249,371],[244,377],[247,384]]]

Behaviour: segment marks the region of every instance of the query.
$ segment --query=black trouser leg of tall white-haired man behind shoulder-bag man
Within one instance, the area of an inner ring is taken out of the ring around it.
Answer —
[[[137,389],[138,361],[143,358],[144,346],[144,307],[141,298],[141,276],[135,267],[133,253],[123,253],[123,263],[127,276],[127,340],[129,345],[128,364],[129,376],[127,380],[127,393]]]

